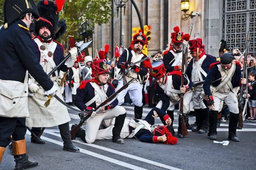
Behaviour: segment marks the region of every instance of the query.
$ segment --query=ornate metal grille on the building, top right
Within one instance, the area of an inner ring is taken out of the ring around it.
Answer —
[[[256,54],[256,0],[223,0],[222,37],[229,48],[245,49],[247,32],[250,31],[249,52]]]

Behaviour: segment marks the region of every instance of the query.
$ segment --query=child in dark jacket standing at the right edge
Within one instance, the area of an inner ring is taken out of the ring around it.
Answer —
[[[248,106],[250,109],[250,117],[247,118],[249,121],[256,121],[256,89],[255,89],[255,73],[248,73]]]

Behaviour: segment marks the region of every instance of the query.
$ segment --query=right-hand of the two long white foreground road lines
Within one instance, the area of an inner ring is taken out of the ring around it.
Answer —
[[[53,132],[46,132],[46,133],[60,137],[59,134],[56,134],[56,133],[53,133]],[[91,147],[98,148],[98,149],[101,149],[101,150],[104,150],[104,151],[108,151],[108,152],[112,152],[112,153],[115,153],[115,154],[118,154],[118,155],[122,155],[122,156],[125,156],[125,157],[128,157],[128,158],[132,158],[132,159],[136,159],[136,160],[139,160],[139,161],[142,161],[142,162],[146,162],[148,164],[164,167],[166,169],[180,170],[180,169],[172,167],[172,166],[164,165],[164,164],[161,164],[161,163],[158,163],[158,162],[155,162],[155,161],[152,161],[152,160],[148,160],[148,159],[145,159],[145,158],[140,158],[138,156],[134,156],[134,155],[131,155],[131,154],[128,154],[128,153],[124,153],[124,152],[116,151],[116,150],[113,150],[113,149],[109,149],[109,148],[106,148],[106,147],[103,147],[103,146],[100,146],[100,145],[87,144],[87,143],[84,143],[84,141],[80,141],[80,140],[77,140],[77,139],[73,140],[73,141],[75,141],[77,143],[80,143],[80,144],[83,144],[83,145],[91,146]],[[80,151],[81,151],[81,149],[80,149]]]

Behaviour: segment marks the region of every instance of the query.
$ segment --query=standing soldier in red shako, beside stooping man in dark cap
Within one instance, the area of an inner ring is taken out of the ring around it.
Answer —
[[[186,74],[193,83],[204,81],[207,76],[209,66],[212,63],[217,62],[217,60],[215,57],[205,53],[202,39],[192,39],[188,42],[190,46],[190,54],[193,57],[193,60],[189,62]],[[202,84],[194,87],[193,90],[193,104],[197,127],[192,129],[192,131],[198,131],[198,133],[206,133],[209,129],[209,109],[203,102],[203,97],[201,96],[202,91]]]

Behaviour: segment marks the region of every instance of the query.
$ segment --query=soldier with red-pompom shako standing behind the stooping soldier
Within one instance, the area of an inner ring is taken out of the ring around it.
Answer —
[[[172,42],[170,43],[170,49],[164,52],[163,62],[166,73],[173,70],[180,70],[182,63],[182,45],[183,41],[188,41],[189,34],[180,32],[180,28],[175,26],[171,33]]]

